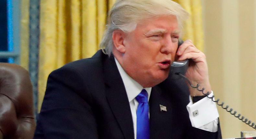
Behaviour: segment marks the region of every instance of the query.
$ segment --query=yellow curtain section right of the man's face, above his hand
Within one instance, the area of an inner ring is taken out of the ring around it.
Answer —
[[[202,23],[201,0],[174,0],[179,3],[189,14],[190,18],[184,25],[183,40],[191,39],[194,45],[204,51],[204,32]]]

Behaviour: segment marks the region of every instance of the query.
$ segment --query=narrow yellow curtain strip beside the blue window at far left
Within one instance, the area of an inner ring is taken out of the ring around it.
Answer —
[[[29,0],[21,0],[20,65],[29,70]]]

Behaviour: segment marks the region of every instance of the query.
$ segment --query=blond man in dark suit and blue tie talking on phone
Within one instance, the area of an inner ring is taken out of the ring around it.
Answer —
[[[204,54],[191,40],[178,48],[187,16],[170,0],[117,1],[104,52],[49,75],[34,138],[220,138],[216,105],[170,79],[174,60],[191,59],[186,76],[211,92]]]

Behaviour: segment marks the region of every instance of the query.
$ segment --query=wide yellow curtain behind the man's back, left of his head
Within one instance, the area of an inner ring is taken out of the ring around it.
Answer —
[[[43,0],[40,13],[38,109],[47,77],[64,64],[91,57],[101,41],[115,0]]]

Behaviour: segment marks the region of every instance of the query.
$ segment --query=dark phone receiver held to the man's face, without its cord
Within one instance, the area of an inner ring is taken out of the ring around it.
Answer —
[[[178,42],[178,48],[183,43],[182,40],[179,40]],[[170,68],[170,76],[172,80],[178,80],[181,77],[177,73],[181,73],[182,75],[185,75],[187,69],[189,66],[189,59],[183,60],[183,61],[173,61],[171,68]]]

